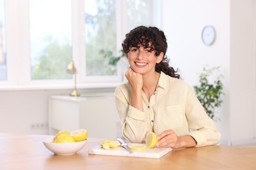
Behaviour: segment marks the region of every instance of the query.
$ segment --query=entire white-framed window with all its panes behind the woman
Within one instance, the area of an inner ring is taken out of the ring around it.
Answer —
[[[100,52],[112,51],[116,56],[125,33],[138,25],[160,26],[157,0],[23,0],[15,5],[6,1],[5,6],[3,2],[0,0],[0,80],[14,86],[72,86],[73,76],[66,72],[72,59],[78,87],[120,82],[120,65],[108,64]],[[4,7],[9,21],[6,38]]]

